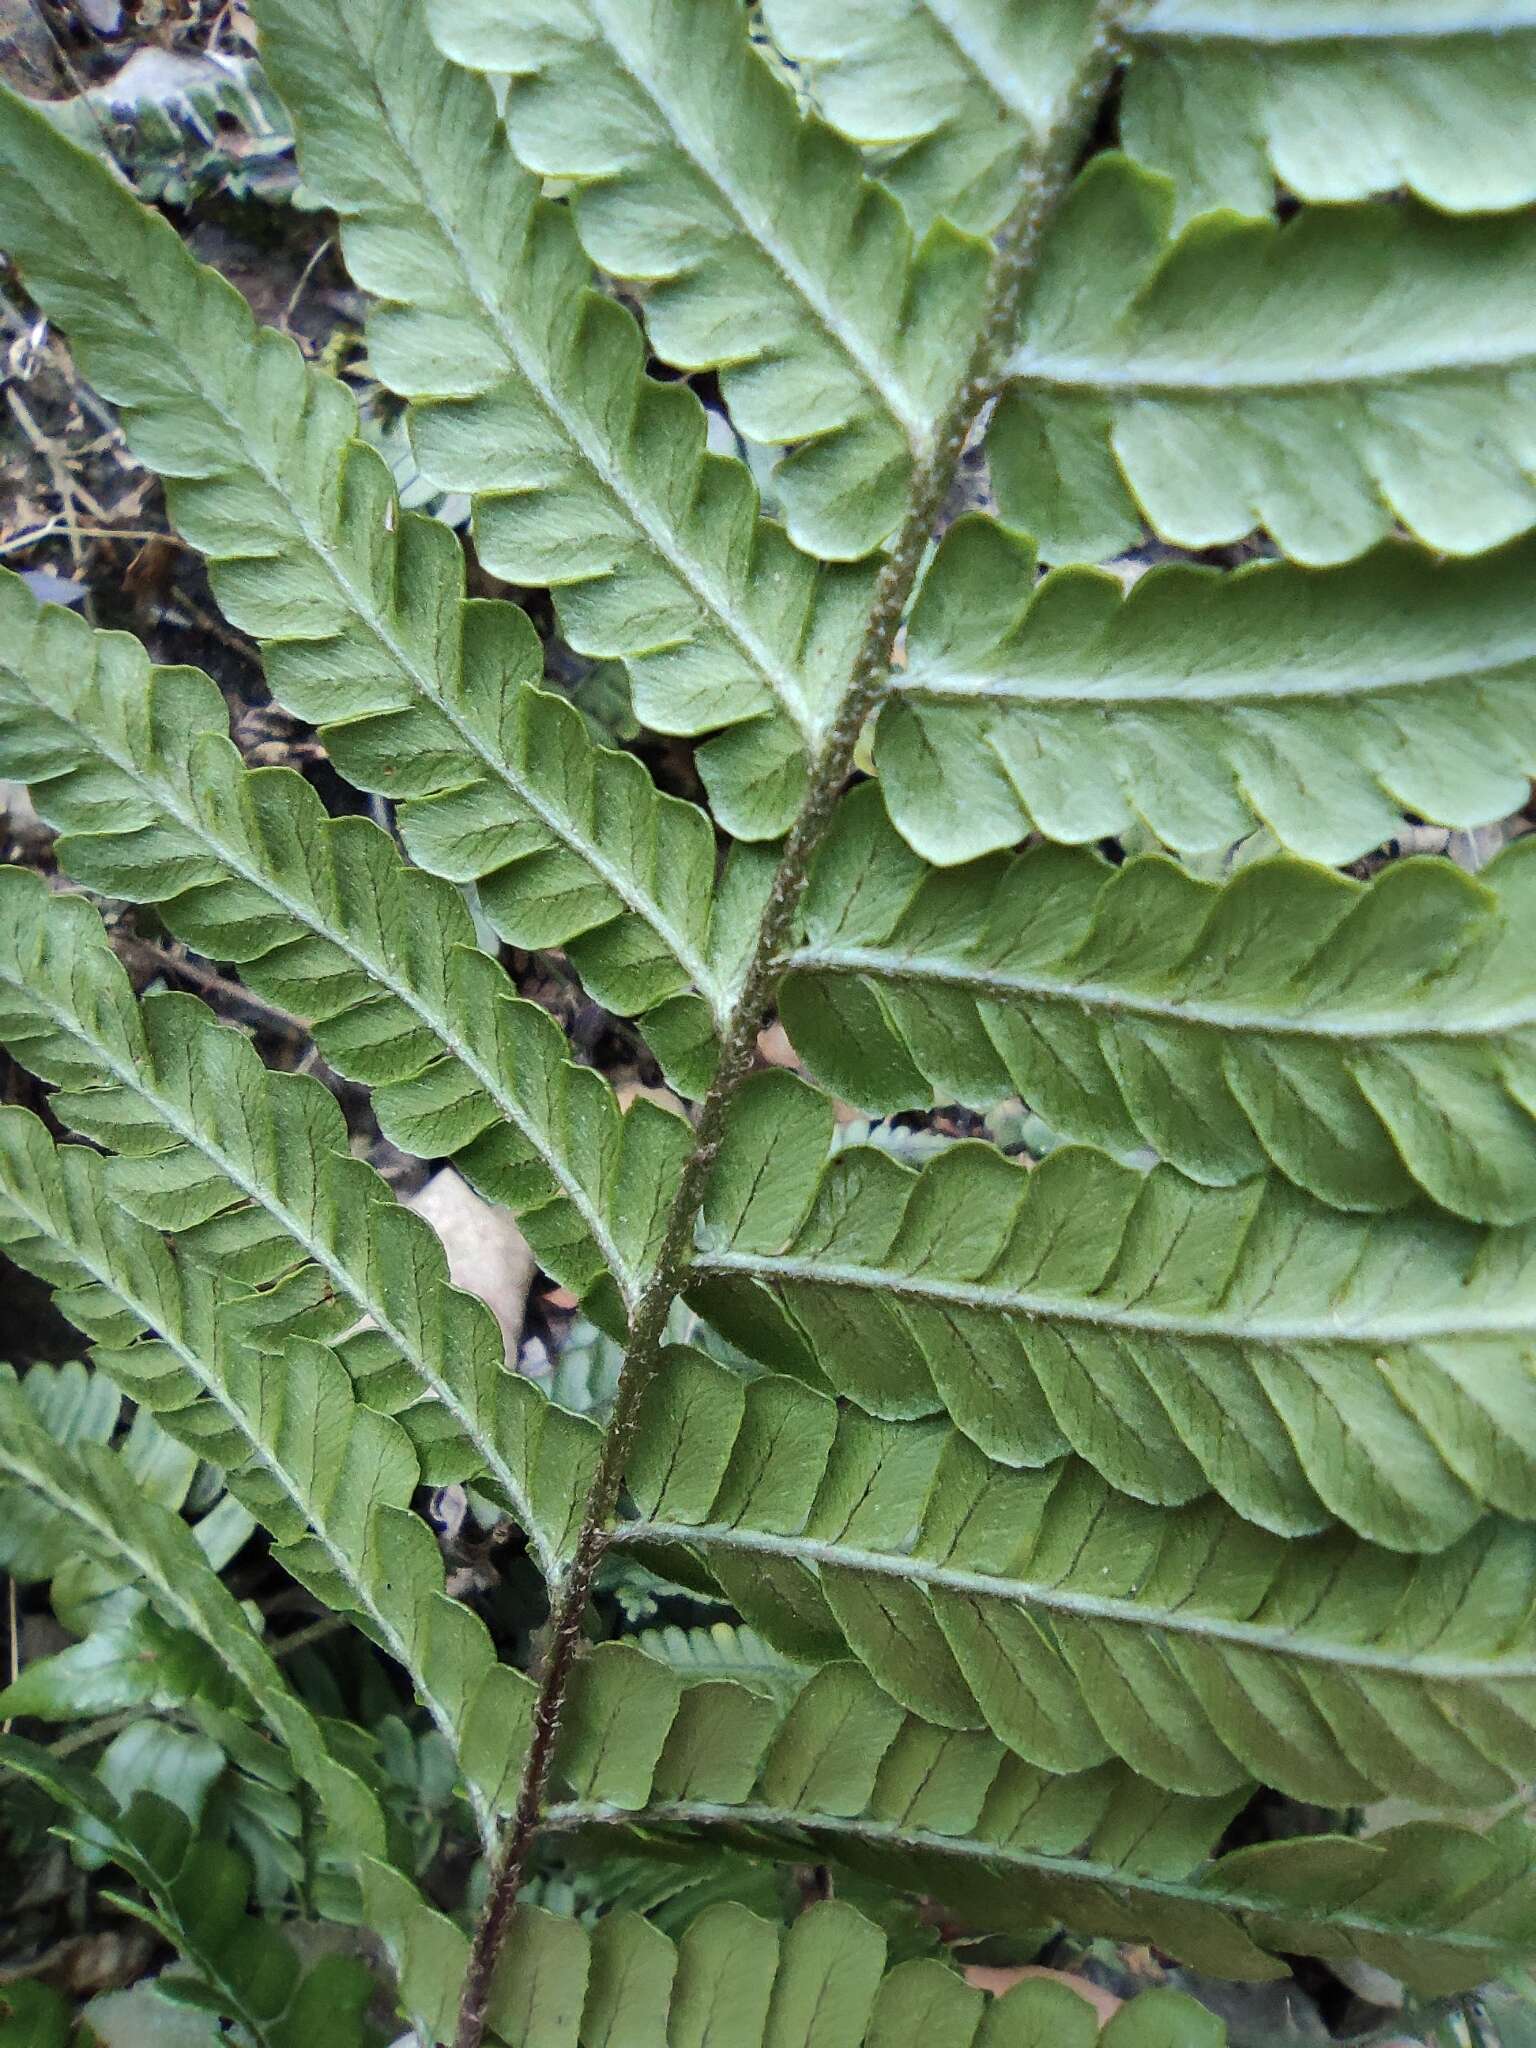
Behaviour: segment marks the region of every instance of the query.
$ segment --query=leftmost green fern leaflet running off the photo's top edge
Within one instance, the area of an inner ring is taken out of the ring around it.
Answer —
[[[735,838],[784,831],[852,662],[868,569],[827,569],[707,453],[686,385],[645,377],[633,315],[592,289],[567,207],[522,170],[485,80],[420,4],[264,0],[262,53],[305,184],[342,219],[375,373],[426,473],[475,498],[479,559],[553,586],[565,637],[623,657],[637,717],[698,752]]]

